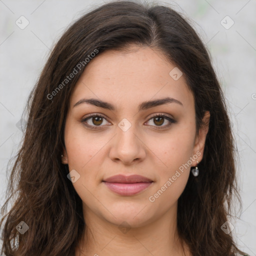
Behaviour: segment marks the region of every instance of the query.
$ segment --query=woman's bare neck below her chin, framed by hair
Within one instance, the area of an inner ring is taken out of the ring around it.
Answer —
[[[191,256],[177,235],[176,209],[177,205],[150,223],[132,227],[108,222],[83,205],[87,224],[79,246],[81,255]]]

